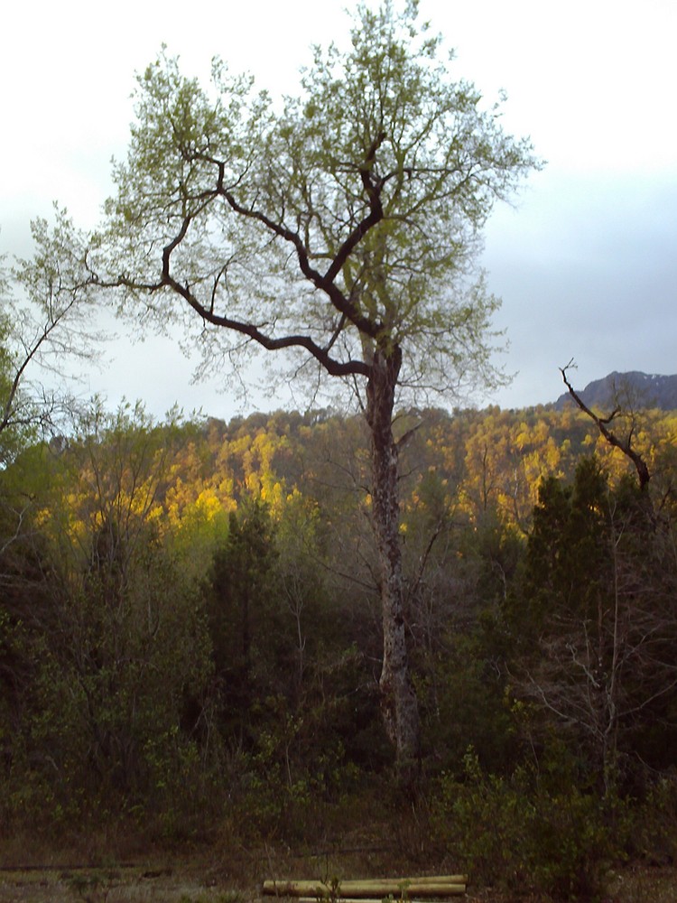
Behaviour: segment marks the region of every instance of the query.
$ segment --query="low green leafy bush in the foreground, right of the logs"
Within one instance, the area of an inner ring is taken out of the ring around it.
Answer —
[[[561,753],[558,753],[561,755]],[[595,899],[623,851],[624,806],[581,787],[561,762],[487,774],[469,750],[464,781],[442,776],[436,835],[474,880],[509,890]]]

